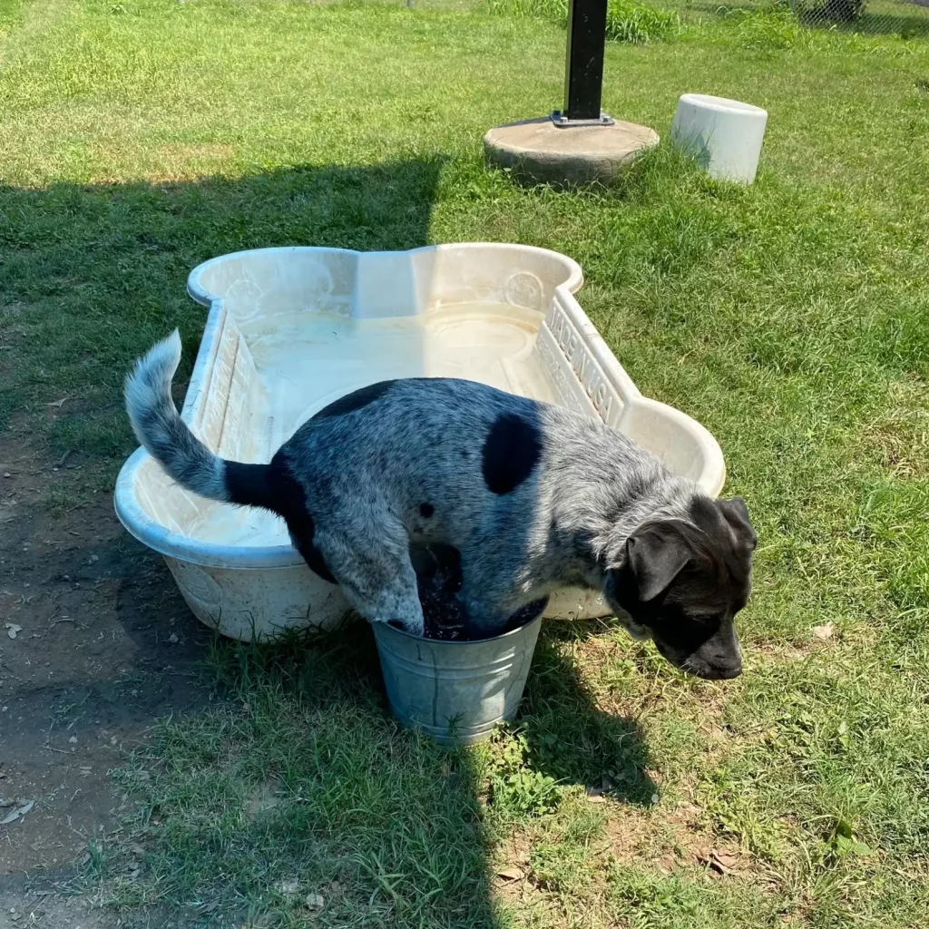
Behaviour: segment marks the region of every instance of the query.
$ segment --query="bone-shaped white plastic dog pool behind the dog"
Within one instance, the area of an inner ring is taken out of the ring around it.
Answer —
[[[598,416],[717,494],[726,469],[715,439],[641,395],[574,299],[581,284],[576,262],[525,245],[214,258],[188,280],[209,314],[184,419],[223,457],[268,462],[298,425],[352,390],[396,377],[463,377]],[[281,519],[183,490],[143,449],[124,464],[115,504],[124,527],[164,555],[194,614],[223,635],[327,629],[347,612]],[[546,610],[606,613],[598,595],[575,590],[554,595]]]

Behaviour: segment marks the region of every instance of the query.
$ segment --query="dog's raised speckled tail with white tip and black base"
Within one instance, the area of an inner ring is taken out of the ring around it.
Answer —
[[[210,500],[277,512],[271,465],[229,462],[210,451],[181,419],[171,399],[180,361],[177,329],[137,360],[125,380],[125,407],[138,440],[178,484]]]

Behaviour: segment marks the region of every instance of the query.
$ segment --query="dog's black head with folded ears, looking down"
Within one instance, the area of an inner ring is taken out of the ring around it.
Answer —
[[[630,635],[651,638],[675,667],[712,680],[738,677],[733,619],[749,597],[757,542],[741,498],[695,497],[686,518],[633,532],[604,594]]]

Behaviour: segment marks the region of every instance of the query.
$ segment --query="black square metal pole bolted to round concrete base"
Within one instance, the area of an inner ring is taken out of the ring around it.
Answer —
[[[556,123],[602,121],[603,54],[607,42],[607,0],[569,0],[565,107]]]

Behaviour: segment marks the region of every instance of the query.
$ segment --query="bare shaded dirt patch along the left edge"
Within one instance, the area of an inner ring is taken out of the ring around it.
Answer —
[[[128,537],[109,494],[52,516],[55,469],[0,441],[0,925],[116,925],[71,896],[88,841],[128,802],[109,771],[153,721],[206,700],[208,635],[160,556]]]

